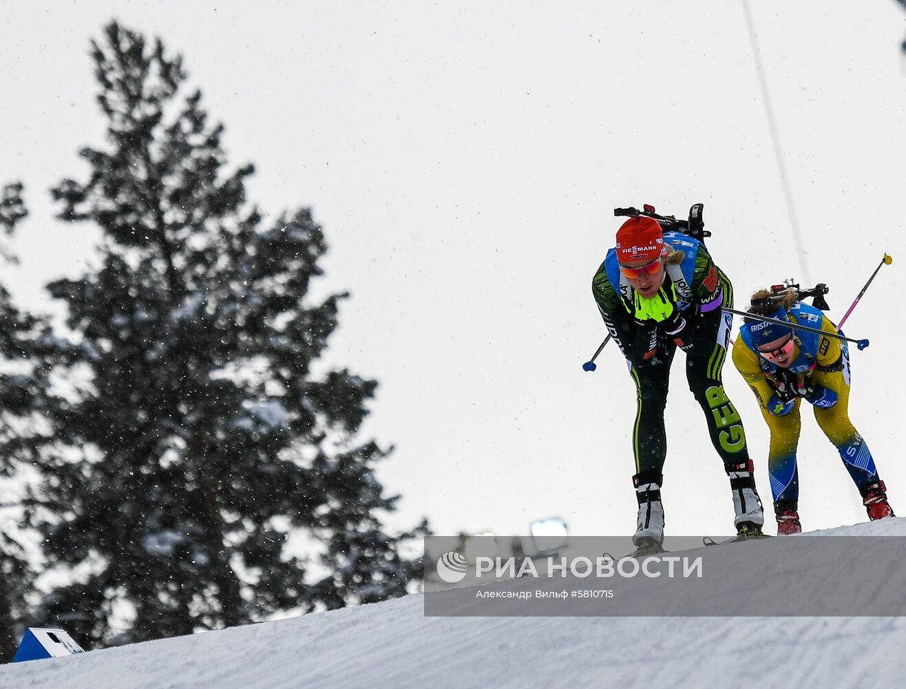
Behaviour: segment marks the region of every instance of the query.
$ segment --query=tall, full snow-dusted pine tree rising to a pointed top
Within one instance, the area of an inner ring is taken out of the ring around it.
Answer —
[[[67,451],[40,466],[46,556],[75,577],[43,618],[123,643],[401,595],[415,569],[411,534],[379,519],[387,451],[355,441],[376,383],[311,370],[346,296],[306,299],[322,229],[308,209],[262,228],[252,166],[226,173],[181,59],[116,23],[104,34],[108,144],[82,150],[86,181],[53,190],[61,218],[104,240],[99,269],[49,286],[80,382],[52,413]],[[286,556],[300,531],[323,541],[313,568]]]

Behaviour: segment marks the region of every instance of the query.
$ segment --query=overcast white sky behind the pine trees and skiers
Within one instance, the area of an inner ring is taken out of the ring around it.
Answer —
[[[47,190],[82,179],[103,120],[88,55],[112,17],[182,53],[226,124],[250,197],[311,206],[331,253],[323,290],[349,289],[328,361],[377,378],[365,435],[395,443],[379,471],[405,525],[629,533],[634,392],[591,278],[614,206],[705,204],[737,306],[802,277],[741,0],[530,3],[3,4],[0,181],[31,217],[3,281],[49,309],[43,284],[91,264],[97,235],[53,219]],[[807,263],[839,318],[884,251],[894,257],[847,324],[853,421],[906,514],[899,295],[906,13],[890,0],[752,3]],[[681,355],[678,357],[681,364]],[[728,481],[674,365],[664,500],[670,535],[726,533]],[[766,502],[767,432],[732,364]],[[800,445],[806,530],[865,519],[814,419]],[[773,530],[773,515],[768,519]]]

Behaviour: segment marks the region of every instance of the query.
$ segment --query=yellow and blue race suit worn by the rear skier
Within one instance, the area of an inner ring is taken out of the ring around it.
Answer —
[[[791,325],[807,325],[824,333],[836,334],[837,327],[821,311],[797,303],[786,310]],[[733,345],[733,364],[748,383],[758,401],[761,414],[771,432],[767,471],[774,502],[795,501],[799,497],[796,446],[802,429],[801,397],[792,404],[778,402],[778,368],[759,356],[752,344],[751,326],[745,324]],[[814,419],[828,440],[834,443],[843,465],[856,487],[878,480],[872,452],[849,419],[850,361],[846,343],[836,337],[796,330],[790,374],[804,388],[814,390],[807,398],[814,407]]]

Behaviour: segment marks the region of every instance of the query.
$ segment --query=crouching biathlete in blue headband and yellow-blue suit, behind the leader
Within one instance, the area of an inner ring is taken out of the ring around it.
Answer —
[[[757,304],[775,294],[759,290],[752,302]],[[814,306],[796,302],[792,290],[783,297],[779,308],[774,303],[751,306],[748,311],[789,325],[837,334],[836,325],[827,316]],[[803,400],[813,406],[815,421],[840,453],[869,518],[893,516],[872,452],[849,419],[849,350],[843,340],[828,335],[747,319],[733,345],[733,364],[755,393],[771,432],[767,471],[779,535],[802,531],[796,445],[802,428],[799,410]]]

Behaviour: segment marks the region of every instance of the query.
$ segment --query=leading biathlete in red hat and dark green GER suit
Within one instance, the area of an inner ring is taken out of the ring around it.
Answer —
[[[660,499],[667,456],[664,407],[670,364],[678,348],[686,355],[689,390],[705,414],[711,442],[730,480],[737,533],[758,538],[765,516],[746,432],[721,380],[732,316],[720,307],[733,305],[733,286],[701,242],[679,232],[663,232],[653,218],[628,219],[616,241],[598,268],[592,289],[636,388],[632,481],[639,513],[633,543],[642,551],[656,552],[664,538]]]

